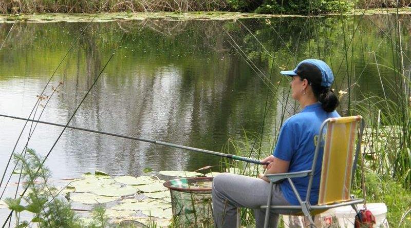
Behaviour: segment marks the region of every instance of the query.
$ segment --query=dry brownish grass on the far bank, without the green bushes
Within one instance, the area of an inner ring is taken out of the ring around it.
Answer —
[[[278,2],[278,1],[277,1]],[[255,7],[266,2],[256,2]],[[274,1],[275,3],[275,1]],[[2,0],[0,1],[0,14],[17,13],[96,13],[96,12],[146,12],[146,11],[215,11],[215,10],[255,10],[255,7],[239,7],[248,5],[247,1],[231,0]],[[288,4],[288,3],[287,3]],[[287,5],[285,3],[285,5]],[[294,3],[291,3],[291,5]],[[330,12],[340,2],[325,1],[329,5]],[[283,3],[281,3],[283,5]],[[356,8],[395,8],[411,5],[411,0],[359,0],[352,1]],[[351,7],[351,6],[350,6]],[[292,7],[291,7],[292,9]],[[261,11],[258,9],[256,11]],[[264,10],[263,10],[264,11]],[[272,12],[268,9],[267,12]],[[266,12],[264,11],[264,12]],[[286,13],[286,12],[285,12]]]

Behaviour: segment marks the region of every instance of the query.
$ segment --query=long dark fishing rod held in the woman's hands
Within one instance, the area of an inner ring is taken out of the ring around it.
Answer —
[[[250,163],[254,163],[254,164],[265,164],[265,165],[268,164],[268,162],[263,163],[260,160],[254,159],[254,158],[241,157],[241,156],[237,156],[237,155],[233,155],[233,154],[225,154],[225,153],[220,153],[220,152],[215,152],[215,151],[210,151],[210,150],[198,149],[198,148],[194,148],[194,147],[186,147],[186,146],[181,146],[181,145],[178,145],[178,144],[173,144],[173,143],[163,142],[163,141],[158,141],[158,140],[137,138],[137,137],[128,136],[128,135],[121,135],[121,134],[116,134],[116,133],[111,133],[111,132],[103,132],[103,131],[97,131],[97,130],[74,127],[74,126],[66,126],[66,125],[62,125],[60,123],[46,122],[46,121],[28,119],[28,118],[17,117],[17,116],[9,116],[9,115],[0,114],[0,117],[26,120],[26,121],[31,121],[31,122],[44,123],[46,125],[66,127],[66,128],[80,130],[80,131],[93,132],[93,133],[98,133],[98,134],[103,134],[103,135],[110,135],[110,136],[115,136],[115,137],[120,137],[120,138],[133,139],[133,140],[143,141],[143,142],[150,142],[150,143],[159,144],[159,145],[163,145],[163,146],[167,146],[167,147],[174,147],[174,148],[190,150],[190,151],[194,151],[194,152],[211,154],[211,155],[216,155],[216,156],[220,156],[220,157],[226,157],[226,158],[233,159],[233,160],[246,161],[246,162],[250,162]]]

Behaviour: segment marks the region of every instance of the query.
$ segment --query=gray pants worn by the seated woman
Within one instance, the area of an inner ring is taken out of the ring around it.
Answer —
[[[222,173],[214,177],[214,227],[239,227],[237,208],[240,207],[254,209],[255,227],[263,227],[266,210],[261,210],[260,206],[267,204],[269,188],[270,183],[259,178],[231,173]],[[277,184],[273,186],[271,204],[290,205]],[[269,227],[276,228],[277,224],[278,214],[271,213]]]

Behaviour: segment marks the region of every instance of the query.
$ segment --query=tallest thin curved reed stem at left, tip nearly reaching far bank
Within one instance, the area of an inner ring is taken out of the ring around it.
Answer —
[[[99,12],[99,13],[100,13],[100,12]],[[97,13],[97,14],[90,20],[90,22],[89,22],[89,23],[87,24],[87,26],[83,29],[83,31],[80,33],[80,35],[74,40],[74,42],[72,43],[72,45],[70,46],[70,48],[68,49],[68,51],[66,52],[66,54],[64,55],[63,59],[60,61],[59,65],[57,66],[57,68],[54,70],[53,74],[51,75],[51,77],[50,77],[49,80],[47,81],[46,86],[44,87],[43,91],[42,91],[41,94],[39,95],[39,99],[38,99],[38,100],[36,101],[36,103],[34,104],[34,107],[33,107],[33,109],[31,110],[28,118],[30,118],[30,116],[32,115],[34,109],[36,109],[36,107],[38,108],[38,104],[39,104],[40,101],[41,101],[41,100],[40,100],[40,97],[43,96],[44,91],[46,90],[47,86],[50,84],[51,79],[54,77],[55,73],[56,73],[57,70],[60,68],[61,64],[63,63],[64,59],[67,57],[68,53],[69,53],[69,52],[71,51],[71,49],[74,47],[74,44],[77,43],[77,41],[79,40],[79,38],[84,34],[84,32],[86,31],[86,29],[88,28],[88,26],[93,22],[93,20],[97,17],[97,15],[98,15],[99,13]],[[50,98],[51,98],[51,96],[49,97],[49,99],[50,99]],[[44,107],[44,108],[45,108],[45,107]],[[34,117],[33,117],[33,118],[34,118]],[[39,116],[39,119],[40,119],[40,116]],[[23,132],[24,132],[24,129],[26,128],[27,123],[28,123],[28,121],[26,121],[26,123],[24,124],[23,129],[22,129],[22,131],[20,132],[20,135],[17,137],[16,143],[14,144],[13,151],[12,151],[11,154],[10,154],[10,157],[9,157],[9,160],[8,160],[8,162],[7,162],[7,164],[6,164],[6,168],[5,168],[5,170],[4,170],[2,179],[0,180],[0,188],[2,187],[3,180],[4,180],[4,177],[5,177],[6,172],[7,172],[7,168],[9,167],[11,158],[13,157],[13,154],[14,154],[14,151],[15,151],[15,149],[16,149],[16,147],[17,147],[18,141],[20,140],[20,138],[21,138],[21,136],[22,136],[22,134],[23,134]],[[24,150],[23,150],[23,151],[24,151]],[[23,153],[23,152],[22,152],[22,153]]]

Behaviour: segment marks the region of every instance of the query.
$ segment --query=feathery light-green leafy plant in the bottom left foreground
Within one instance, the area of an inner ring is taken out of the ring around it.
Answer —
[[[91,223],[85,225],[71,210],[70,203],[58,198],[57,189],[48,184],[50,170],[44,166],[42,157],[34,150],[27,149],[23,155],[15,154],[14,159],[22,170],[23,187],[27,188],[25,195],[16,199],[5,199],[9,209],[14,210],[15,227],[31,227],[33,223],[36,223],[35,227],[42,228],[108,227],[104,206],[97,206],[91,213]],[[31,221],[20,221],[20,214],[25,211],[33,214]]]

